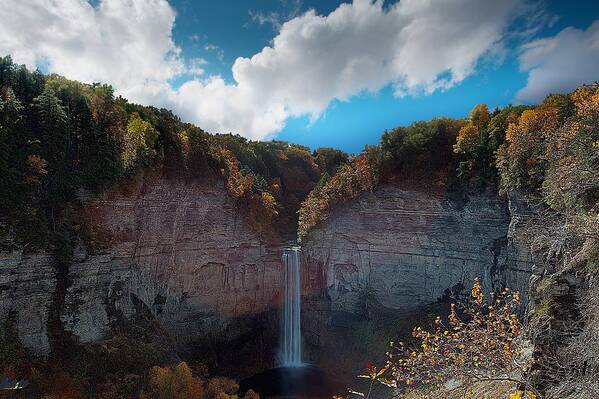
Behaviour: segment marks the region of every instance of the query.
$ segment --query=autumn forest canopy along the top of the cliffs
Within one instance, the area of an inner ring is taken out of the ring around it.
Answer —
[[[553,207],[596,199],[597,87],[537,107],[489,110],[397,127],[350,156],[333,148],[209,134],[112,87],[43,75],[0,58],[0,215],[4,233],[41,247],[73,234],[65,210],[148,169],[223,179],[263,237],[303,237],[339,204],[379,184],[437,180],[469,189],[541,190]],[[418,171],[421,175],[415,176]],[[437,180],[436,180],[437,179]],[[427,183],[427,184],[428,184]],[[559,184],[558,184],[559,183]],[[565,187],[565,189],[564,189]],[[283,227],[277,227],[283,226]],[[296,230],[297,227],[297,230]]]

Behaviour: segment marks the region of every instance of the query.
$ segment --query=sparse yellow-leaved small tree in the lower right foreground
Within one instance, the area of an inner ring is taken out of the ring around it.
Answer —
[[[385,366],[369,363],[361,377],[393,388],[430,385],[440,391],[452,379],[458,381],[453,390],[463,391],[486,381],[508,381],[524,386],[526,395],[535,398],[534,388],[520,377],[527,364],[520,345],[519,305],[518,293],[507,289],[486,300],[475,279],[465,307],[452,304],[447,321],[437,317],[430,331],[416,327],[412,335],[419,345],[391,343]]]

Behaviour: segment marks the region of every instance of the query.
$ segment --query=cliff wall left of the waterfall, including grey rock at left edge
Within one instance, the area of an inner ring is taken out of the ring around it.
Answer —
[[[105,339],[140,314],[180,348],[232,341],[254,329],[247,317],[278,307],[280,248],[254,234],[222,184],[145,178],[86,208],[103,245],[80,246],[69,265],[60,321],[76,341]],[[23,343],[47,355],[52,257],[5,251],[1,261],[0,317],[16,317]]]

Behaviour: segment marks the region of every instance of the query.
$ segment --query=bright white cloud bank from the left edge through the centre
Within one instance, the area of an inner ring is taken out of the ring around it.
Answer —
[[[105,81],[134,101],[174,109],[212,132],[261,139],[289,117],[318,118],[333,100],[392,84],[398,96],[450,88],[501,49],[519,0],[354,0],[329,15],[308,11],[281,25],[272,44],[238,58],[234,81],[200,75],[171,33],[165,0],[7,0],[0,52],[83,81]],[[10,10],[10,11],[8,11]],[[207,46],[210,46],[207,44]],[[210,47],[218,51],[217,47]],[[196,72],[178,88],[169,80]]]

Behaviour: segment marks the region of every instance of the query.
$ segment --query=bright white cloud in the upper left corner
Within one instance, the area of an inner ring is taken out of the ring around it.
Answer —
[[[184,70],[164,0],[4,0],[0,53],[34,68],[85,82],[113,84],[123,95]]]

